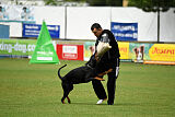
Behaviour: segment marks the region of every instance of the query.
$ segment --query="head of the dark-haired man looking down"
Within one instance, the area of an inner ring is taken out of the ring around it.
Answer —
[[[100,37],[100,35],[102,34],[103,32],[103,28],[101,27],[101,25],[98,23],[94,23],[92,26],[91,26],[91,31],[92,33],[96,36],[96,37]]]

